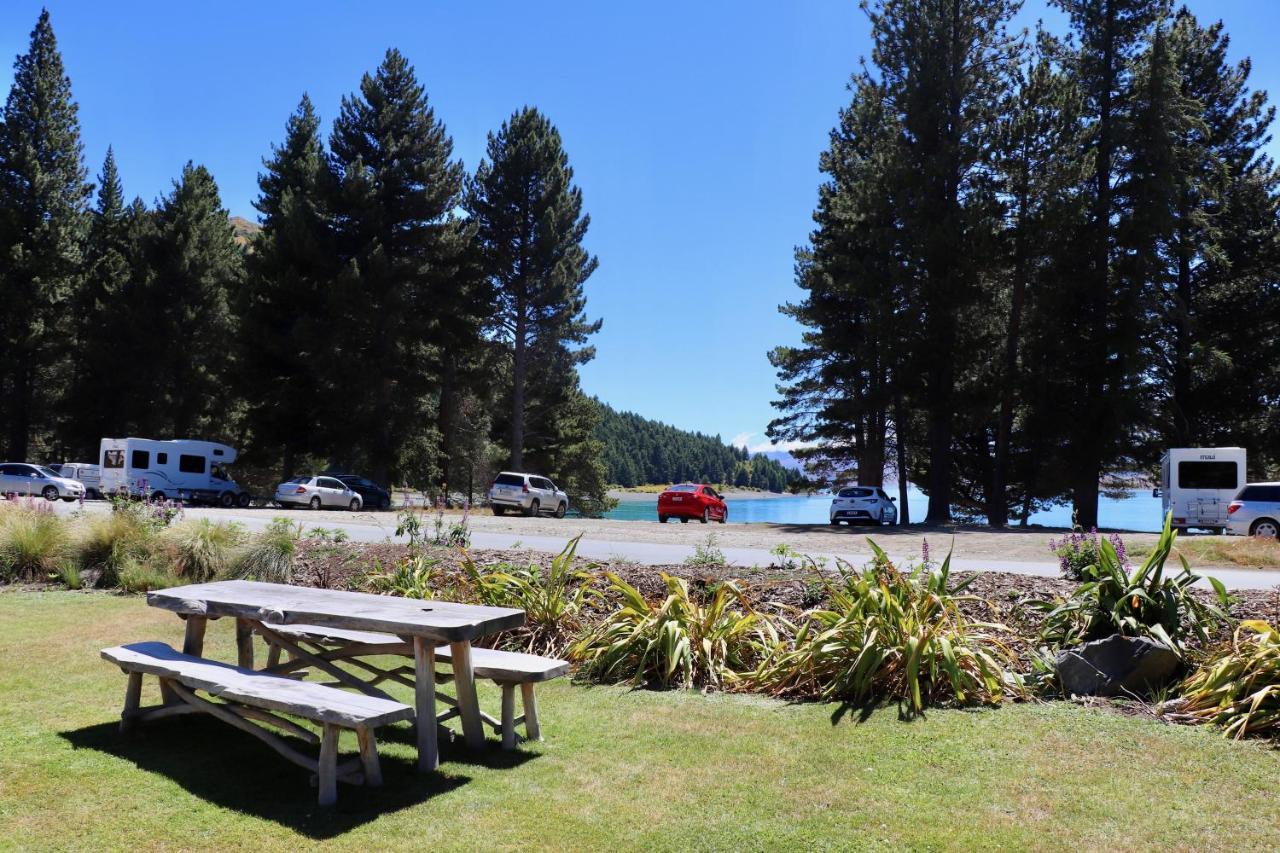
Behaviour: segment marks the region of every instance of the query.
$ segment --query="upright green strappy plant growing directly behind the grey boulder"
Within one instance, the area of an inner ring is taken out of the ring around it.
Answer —
[[[1190,634],[1208,642],[1210,630],[1228,619],[1230,603],[1226,588],[1216,578],[1207,580],[1219,606],[1206,605],[1192,594],[1201,575],[1192,571],[1187,557],[1179,555],[1181,570],[1166,574],[1165,562],[1172,551],[1178,532],[1171,528],[1172,514],[1165,516],[1165,529],[1147,560],[1132,574],[1106,539],[1098,543],[1098,561],[1083,569],[1084,583],[1065,602],[1039,602],[1046,611],[1043,637],[1056,646],[1075,646],[1121,634],[1151,637],[1179,654],[1184,653],[1183,638]]]

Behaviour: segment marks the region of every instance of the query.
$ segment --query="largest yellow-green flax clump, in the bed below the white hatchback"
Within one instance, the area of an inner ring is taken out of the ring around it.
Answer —
[[[870,540],[868,540],[870,542]],[[938,704],[997,704],[1021,693],[1012,654],[998,635],[1009,629],[969,621],[960,593],[950,588],[951,556],[941,566],[899,571],[876,555],[865,571],[837,562],[840,581],[823,579],[827,607],[783,622],[783,639],[746,678],[772,695],[897,701],[906,716]]]

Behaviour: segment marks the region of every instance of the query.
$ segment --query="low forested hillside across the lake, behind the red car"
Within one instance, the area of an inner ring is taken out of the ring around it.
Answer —
[[[596,435],[604,442],[609,483],[622,487],[685,480],[724,483],[782,492],[791,474],[772,459],[751,456],[719,435],[703,435],[649,420],[630,411],[600,406]]]

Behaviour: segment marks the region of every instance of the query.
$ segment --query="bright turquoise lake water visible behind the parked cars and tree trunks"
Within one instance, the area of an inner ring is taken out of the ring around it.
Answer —
[[[895,494],[893,491],[890,493]],[[913,487],[908,491],[908,501],[910,502],[911,520],[916,523],[923,520],[929,505],[928,496]],[[829,494],[731,498],[728,501],[728,523],[827,524],[829,507]],[[658,517],[658,496],[630,494],[604,517],[622,521],[654,521]],[[1098,497],[1098,521],[1103,528],[1158,532],[1162,520],[1160,498],[1151,497],[1149,489],[1130,492],[1128,497],[1119,500],[1106,496]],[[1056,506],[1043,512],[1036,512],[1030,517],[1030,524],[1047,528],[1070,528],[1071,507],[1070,505]]]

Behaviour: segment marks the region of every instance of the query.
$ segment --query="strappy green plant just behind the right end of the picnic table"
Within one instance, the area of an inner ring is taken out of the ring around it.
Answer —
[[[573,570],[581,538],[579,534],[571,539],[545,573],[535,562],[481,569],[470,555],[463,557],[462,567],[480,601],[525,611],[525,626],[515,631],[522,651],[558,657],[581,631],[582,606],[591,585],[591,575]]]

